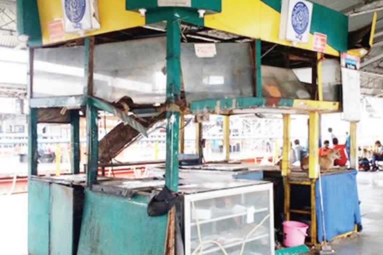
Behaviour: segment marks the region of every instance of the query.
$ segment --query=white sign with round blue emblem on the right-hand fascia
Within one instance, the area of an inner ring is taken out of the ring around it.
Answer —
[[[279,38],[308,43],[313,3],[306,0],[283,0]]]

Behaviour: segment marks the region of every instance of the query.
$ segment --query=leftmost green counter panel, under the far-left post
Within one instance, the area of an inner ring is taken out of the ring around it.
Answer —
[[[49,255],[49,183],[28,180],[28,254]]]

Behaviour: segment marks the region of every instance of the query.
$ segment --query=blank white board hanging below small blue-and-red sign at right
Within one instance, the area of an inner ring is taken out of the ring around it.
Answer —
[[[360,72],[342,68],[343,116],[344,121],[361,120],[361,77]]]

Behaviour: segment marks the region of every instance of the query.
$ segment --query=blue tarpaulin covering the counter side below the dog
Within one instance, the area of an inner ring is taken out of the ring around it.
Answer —
[[[322,175],[326,239],[331,241],[336,236],[355,230],[355,225],[362,226],[361,210],[357,186],[357,171]],[[321,201],[317,180],[315,203],[317,213],[318,242],[323,241]]]

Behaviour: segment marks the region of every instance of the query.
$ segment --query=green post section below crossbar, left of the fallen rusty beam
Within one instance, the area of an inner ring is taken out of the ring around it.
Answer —
[[[86,184],[90,186],[97,182],[98,171],[98,110],[88,103],[86,107],[86,142],[87,142],[87,172]]]

